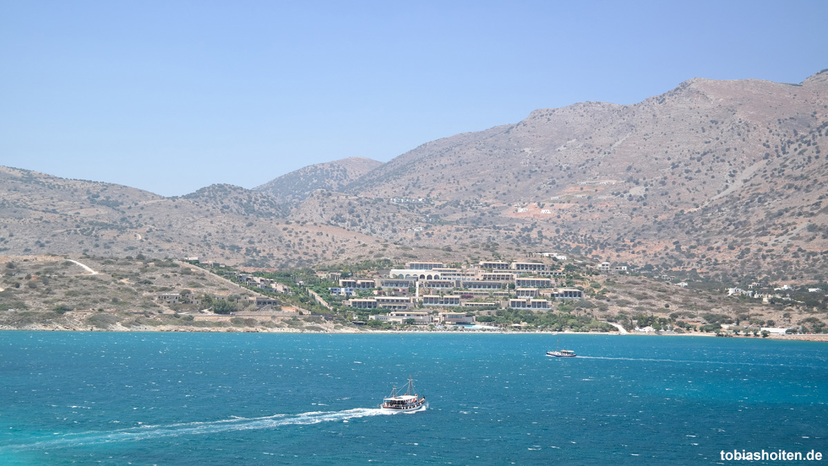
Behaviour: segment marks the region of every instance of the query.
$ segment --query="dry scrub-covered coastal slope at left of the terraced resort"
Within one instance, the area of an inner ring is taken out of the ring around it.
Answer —
[[[66,257],[0,257],[0,329],[332,331],[336,327],[315,317],[200,314],[198,304],[158,302],[156,296],[162,293],[253,295],[189,264],[143,257],[75,260],[99,273],[92,275]]]

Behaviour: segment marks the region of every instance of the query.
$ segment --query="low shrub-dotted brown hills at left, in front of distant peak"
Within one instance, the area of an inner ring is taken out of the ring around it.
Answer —
[[[373,257],[383,246],[343,228],[280,219],[279,209],[267,196],[237,186],[213,185],[183,198],[165,198],[123,185],[0,166],[0,253],[142,253],[248,267],[304,267]]]

